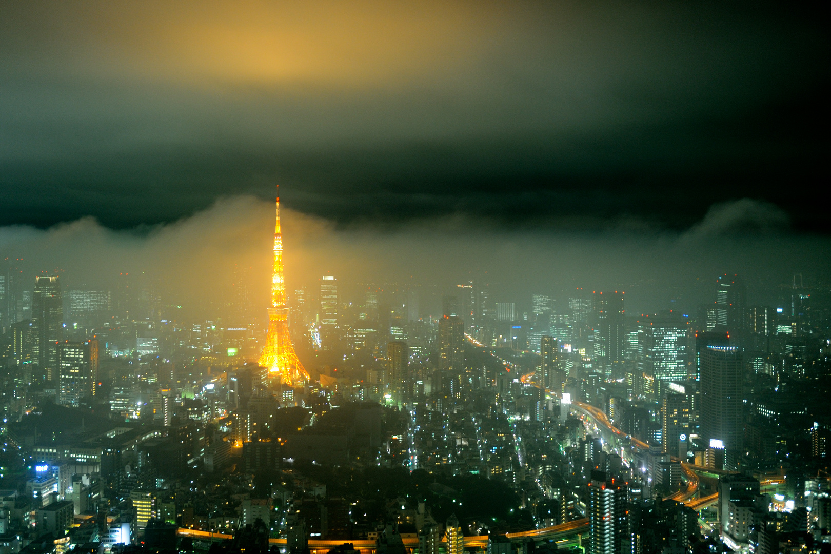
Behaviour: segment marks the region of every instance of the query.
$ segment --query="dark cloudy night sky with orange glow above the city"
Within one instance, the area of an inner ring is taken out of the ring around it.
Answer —
[[[714,275],[825,275],[829,22],[806,6],[0,2],[0,225],[22,226],[0,246],[215,230],[247,202],[268,243],[280,184],[287,218],[341,246],[430,229],[430,267],[484,232],[607,241],[598,259],[622,241],[627,267],[730,237]]]

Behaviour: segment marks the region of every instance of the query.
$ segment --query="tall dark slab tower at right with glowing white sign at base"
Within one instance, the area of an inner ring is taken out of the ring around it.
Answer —
[[[707,444],[727,453],[742,448],[742,357],[735,346],[701,351],[701,434]],[[725,456],[729,458],[729,456]]]

